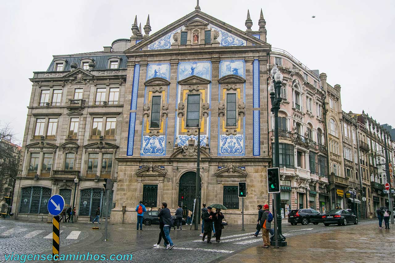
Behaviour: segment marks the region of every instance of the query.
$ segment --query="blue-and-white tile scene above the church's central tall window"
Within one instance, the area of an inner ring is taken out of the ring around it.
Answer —
[[[193,75],[211,80],[211,62],[194,61],[179,63],[178,80],[186,79]]]

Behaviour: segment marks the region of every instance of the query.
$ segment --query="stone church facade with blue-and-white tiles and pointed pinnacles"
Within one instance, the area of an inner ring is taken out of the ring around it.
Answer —
[[[143,201],[166,201],[193,210],[197,135],[200,127],[199,203],[221,203],[226,218],[241,223],[238,182],[247,183],[246,222],[268,202],[267,61],[265,20],[244,32],[195,11],[149,36],[132,26],[119,149],[113,222],[135,222]],[[199,205],[200,207],[200,205]],[[199,208],[198,208],[199,209]],[[199,209],[200,211],[200,209]]]

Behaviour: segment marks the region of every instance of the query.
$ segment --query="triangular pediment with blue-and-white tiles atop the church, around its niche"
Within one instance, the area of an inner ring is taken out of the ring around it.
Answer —
[[[248,34],[239,28],[224,23],[207,13],[195,10],[155,32],[148,38],[139,41],[139,43],[133,45],[124,52],[127,54],[130,51],[140,51],[144,47],[148,47],[148,50],[170,49],[171,45],[175,42],[175,34],[180,33],[181,30],[194,27],[207,27],[209,30],[218,32],[220,47],[246,46],[247,41],[254,45],[269,45],[265,41],[252,36],[252,34]],[[181,36],[177,37],[178,39],[181,38]],[[221,41],[222,38],[224,38],[224,41]]]

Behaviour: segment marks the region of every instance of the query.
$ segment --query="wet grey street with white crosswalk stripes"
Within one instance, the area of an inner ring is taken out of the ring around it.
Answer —
[[[375,221],[361,221],[360,225],[372,224]],[[184,225],[182,230],[171,230],[171,238],[175,244],[173,250],[153,248],[158,241],[159,227],[157,225],[145,226],[143,231],[136,231],[135,225],[109,225],[109,237],[103,240],[104,229],[91,229],[92,224],[69,224],[60,225],[60,253],[89,252],[90,254],[132,254],[133,261],[146,261],[147,257],[160,261],[177,262],[210,262],[216,259],[224,259],[245,250],[257,246],[262,242],[262,237],[254,237],[255,225],[246,225],[246,231],[241,231],[241,226],[229,226],[222,231],[221,243],[213,244],[202,242],[200,230],[192,230]],[[98,225],[95,225],[98,226]],[[102,226],[102,225],[101,225]],[[332,232],[344,227],[332,225],[325,227],[323,224],[296,225],[289,223],[283,225],[285,237],[303,235],[308,233]],[[356,226],[358,227],[358,225]],[[52,224],[47,223],[24,223],[12,220],[0,221],[0,261],[4,261],[4,254],[14,253],[51,253],[52,248]],[[81,242],[82,241],[82,242]],[[162,240],[163,244],[163,240]],[[10,262],[10,261],[7,261]],[[43,262],[43,261],[40,261]],[[75,261],[89,262],[89,261]],[[91,261],[98,262],[98,261]],[[126,261],[99,261],[126,262]]]

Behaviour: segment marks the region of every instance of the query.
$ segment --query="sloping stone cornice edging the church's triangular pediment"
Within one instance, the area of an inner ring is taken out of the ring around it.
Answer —
[[[207,13],[204,13],[200,10],[194,10],[193,12],[185,15],[184,17],[181,17],[177,21],[174,21],[173,23],[162,28],[158,32],[155,32],[148,38],[143,39],[136,45],[130,47],[129,49],[126,49],[125,53],[127,54],[130,53],[131,51],[139,51],[143,47],[149,45],[150,43],[154,43],[156,40],[166,36],[167,34],[177,29],[180,30],[181,27],[190,27],[192,26],[190,23],[198,23],[199,20],[200,23],[212,24],[216,28],[219,28],[220,30],[224,30],[230,34],[233,34],[238,38],[242,38],[243,40],[248,40],[249,42],[254,43],[254,45],[269,45],[265,41],[252,36],[252,34],[248,34],[243,30],[240,30],[239,28],[231,26],[230,24],[227,24],[223,21],[220,21],[219,19],[216,19],[215,17],[208,15]],[[171,36],[169,36],[169,38],[170,37]]]

